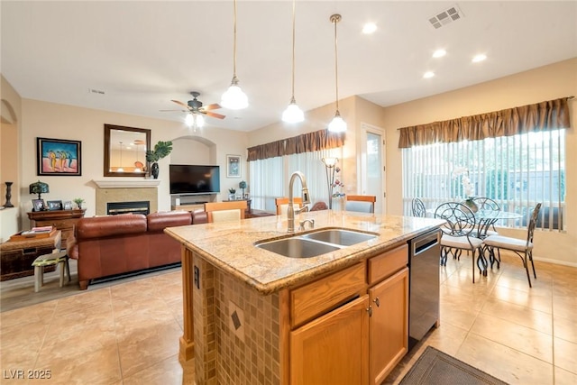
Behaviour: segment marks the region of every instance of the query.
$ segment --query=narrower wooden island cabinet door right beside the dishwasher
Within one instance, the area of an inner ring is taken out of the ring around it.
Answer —
[[[408,268],[369,289],[371,384],[380,384],[408,352]]]

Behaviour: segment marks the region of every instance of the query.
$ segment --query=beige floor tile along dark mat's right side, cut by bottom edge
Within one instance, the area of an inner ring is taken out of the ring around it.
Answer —
[[[511,385],[553,383],[553,365],[481,335],[467,335],[456,358]]]

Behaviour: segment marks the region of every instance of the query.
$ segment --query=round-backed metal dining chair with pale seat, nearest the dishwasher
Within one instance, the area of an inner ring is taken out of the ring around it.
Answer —
[[[472,252],[472,283],[475,283],[475,255],[477,266],[482,275],[487,274],[487,262],[482,255],[483,241],[474,236],[476,231],[475,215],[462,203],[447,202],[435,210],[435,218],[444,219],[441,236],[441,265],[446,266],[447,256],[460,260],[464,251]]]

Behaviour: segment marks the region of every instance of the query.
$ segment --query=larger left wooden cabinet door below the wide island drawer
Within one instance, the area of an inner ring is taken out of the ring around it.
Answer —
[[[290,332],[290,383],[366,384],[368,307],[364,295]]]

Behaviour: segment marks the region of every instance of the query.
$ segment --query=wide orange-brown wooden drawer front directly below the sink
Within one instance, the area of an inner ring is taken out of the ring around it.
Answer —
[[[291,326],[320,316],[365,288],[365,263],[360,262],[290,292]]]

